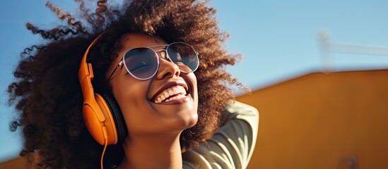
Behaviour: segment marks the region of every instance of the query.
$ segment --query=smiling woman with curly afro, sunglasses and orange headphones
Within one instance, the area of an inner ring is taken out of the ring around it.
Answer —
[[[76,1],[83,22],[47,3],[68,26],[27,24],[48,41],[25,49],[8,87],[29,168],[247,166],[258,115],[233,101],[230,86],[246,88],[225,72],[236,56],[214,8]]]

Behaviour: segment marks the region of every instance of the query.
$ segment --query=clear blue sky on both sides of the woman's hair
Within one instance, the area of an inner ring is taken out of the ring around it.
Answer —
[[[66,11],[74,11],[73,1],[52,1]],[[330,32],[331,42],[368,46],[388,46],[388,1],[325,0],[269,1],[215,0],[222,30],[231,37],[228,51],[245,59],[228,71],[252,89],[317,72],[322,68],[317,34]],[[57,23],[43,0],[4,1],[0,11],[0,91],[13,79],[20,51],[39,42],[25,29],[32,22],[41,27]],[[331,54],[334,71],[388,68],[388,56]],[[0,92],[0,162],[17,156],[18,132],[8,132],[13,108],[6,106],[7,94]]]

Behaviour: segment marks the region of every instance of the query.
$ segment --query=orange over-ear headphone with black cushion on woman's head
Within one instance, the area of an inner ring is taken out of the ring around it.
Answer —
[[[83,94],[83,120],[86,127],[98,143],[110,145],[124,141],[127,136],[127,127],[117,101],[112,94],[98,94],[94,92],[92,64],[86,62],[89,49],[105,32],[96,37],[88,46],[88,49],[86,49],[85,54],[83,54],[78,71],[78,79]]]

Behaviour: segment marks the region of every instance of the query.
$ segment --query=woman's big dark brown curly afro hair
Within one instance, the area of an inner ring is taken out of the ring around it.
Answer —
[[[170,42],[192,44],[199,53],[200,65],[195,75],[199,89],[199,120],[180,136],[182,150],[205,143],[218,127],[218,118],[226,104],[234,99],[233,89],[245,88],[225,71],[239,55],[228,54],[223,46],[228,35],[218,28],[216,10],[206,1],[126,1],[124,4],[100,0],[95,10],[90,2],[75,0],[74,15],[47,2],[66,25],[42,30],[27,23],[33,34],[45,41],[22,52],[8,86],[9,102],[18,110],[18,120],[11,130],[23,129],[25,139],[20,156],[30,168],[98,168],[103,146],[90,136],[83,123],[83,96],[78,83],[78,66],[88,45],[106,32],[90,50],[96,90],[106,90],[105,74],[121,48],[117,39],[127,32],[141,32]]]

